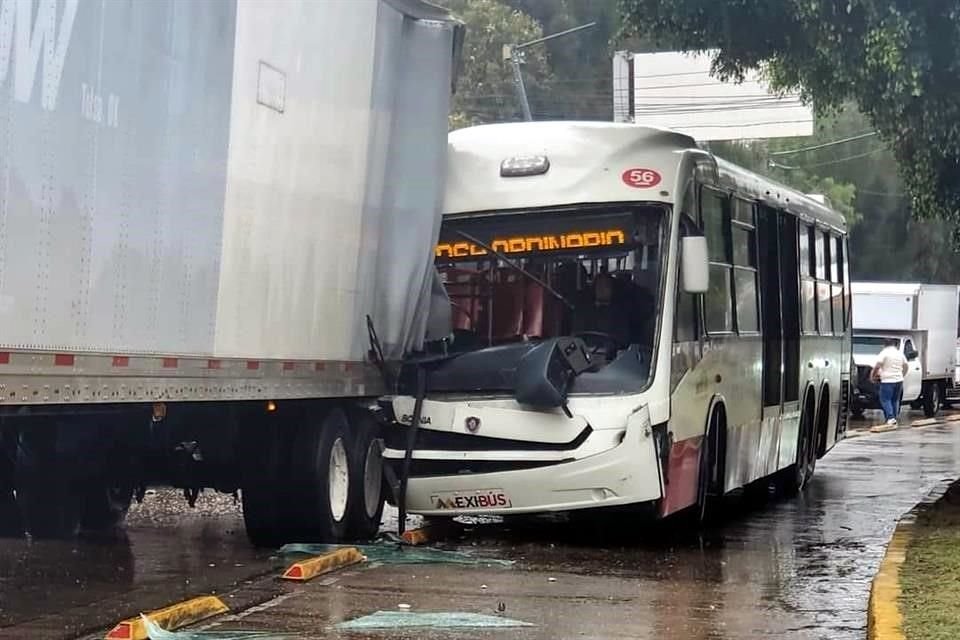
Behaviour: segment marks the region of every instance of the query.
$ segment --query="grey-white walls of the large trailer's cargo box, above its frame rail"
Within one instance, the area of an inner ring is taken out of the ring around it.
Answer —
[[[388,356],[417,345],[444,12],[2,6],[0,350],[358,361],[368,314]]]

